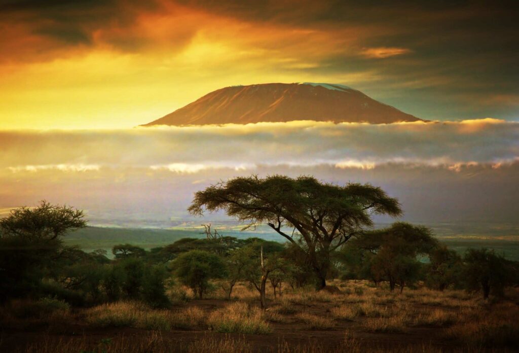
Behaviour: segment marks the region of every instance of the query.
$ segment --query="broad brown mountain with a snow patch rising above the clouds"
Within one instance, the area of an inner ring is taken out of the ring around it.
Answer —
[[[218,89],[143,126],[292,120],[385,124],[421,119],[343,85],[276,83]]]

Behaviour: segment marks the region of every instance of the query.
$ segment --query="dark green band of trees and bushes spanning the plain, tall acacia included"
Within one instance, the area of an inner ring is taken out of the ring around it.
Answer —
[[[0,301],[52,296],[76,306],[123,298],[170,305],[167,288],[183,284],[198,298],[220,288],[231,298],[238,282],[268,288],[326,288],[334,278],[368,279],[403,291],[418,281],[444,290],[463,288],[500,296],[517,285],[517,263],[488,249],[463,256],[447,249],[427,227],[396,222],[373,229],[373,214],[399,216],[397,199],[369,184],[338,186],[313,177],[235,178],[195,194],[189,212],[224,210],[245,227],[267,224],[284,243],[237,239],[211,231],[145,250],[114,246],[90,253],[66,246],[67,232],[87,225],[82,211],[43,201],[0,220]]]

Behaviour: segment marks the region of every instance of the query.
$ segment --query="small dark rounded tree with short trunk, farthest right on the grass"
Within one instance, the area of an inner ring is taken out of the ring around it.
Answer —
[[[512,282],[511,263],[494,251],[469,249],[463,262],[463,279],[467,290],[482,290],[484,299],[490,294],[502,295],[504,287]]]

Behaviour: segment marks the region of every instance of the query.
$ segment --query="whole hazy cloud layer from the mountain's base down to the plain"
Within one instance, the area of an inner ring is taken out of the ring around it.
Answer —
[[[46,198],[101,223],[168,225],[198,189],[252,173],[371,182],[409,220],[515,222],[519,211],[519,123],[495,119],[0,131],[0,148],[0,207]]]

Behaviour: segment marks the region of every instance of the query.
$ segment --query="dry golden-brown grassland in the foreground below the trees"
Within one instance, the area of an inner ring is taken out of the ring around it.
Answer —
[[[501,300],[418,287],[402,294],[366,281],[340,293],[287,289],[258,308],[239,283],[230,301],[215,290],[170,309],[117,302],[71,309],[56,300],[13,301],[1,314],[9,352],[507,352],[519,349],[519,290]],[[170,295],[175,295],[174,292]]]

